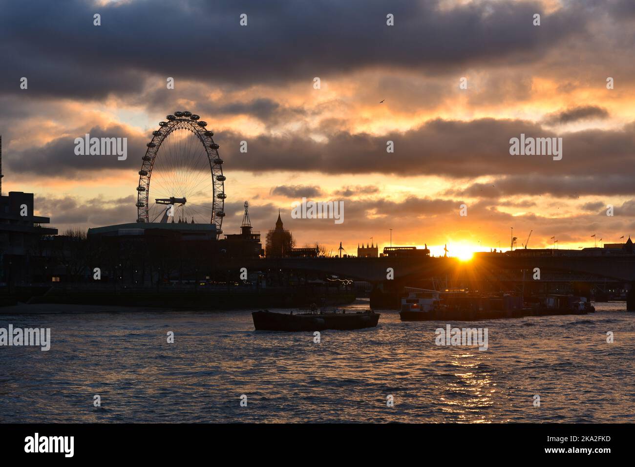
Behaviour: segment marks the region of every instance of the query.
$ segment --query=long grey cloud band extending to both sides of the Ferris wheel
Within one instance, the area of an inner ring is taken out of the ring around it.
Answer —
[[[635,125],[620,130],[583,130],[554,133],[537,123],[511,119],[484,118],[473,121],[435,119],[408,132],[383,136],[369,133],[335,132],[326,142],[318,142],[304,132],[244,137],[231,131],[215,136],[225,170],[254,173],[297,171],[323,173],[386,173],[404,177],[445,175],[455,179],[483,175],[507,176],[492,187],[474,184],[470,196],[502,196],[514,193],[579,194],[633,193],[635,187]],[[8,165],[15,172],[39,175],[75,174],[95,168],[137,168],[149,137],[130,136],[128,159],[116,156],[76,156],[74,137],[52,140],[44,147],[15,152]],[[562,137],[563,158],[552,156],[512,156],[509,140],[526,137]],[[126,136],[119,126],[91,128],[91,136]],[[168,136],[168,139],[170,137]],[[239,153],[240,142],[248,142],[248,152]],[[387,141],[394,153],[387,153]],[[239,156],[238,156],[239,155]],[[161,151],[159,151],[159,157]],[[196,161],[192,163],[196,164]],[[615,174],[616,170],[620,175]],[[480,193],[484,191],[483,193]]]

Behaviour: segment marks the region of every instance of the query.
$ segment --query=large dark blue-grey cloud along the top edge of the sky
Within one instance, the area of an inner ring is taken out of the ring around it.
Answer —
[[[372,66],[431,73],[467,64],[532,61],[585,30],[584,5],[542,11],[533,1],[3,2],[0,90],[103,98],[135,94],[144,79],[244,85],[307,79]],[[34,14],[36,12],[36,14]],[[541,27],[532,25],[542,13]],[[100,13],[102,25],[93,25]],[[241,13],[248,25],[239,25]],[[385,24],[386,14],[395,26]],[[548,27],[547,27],[548,25]]]

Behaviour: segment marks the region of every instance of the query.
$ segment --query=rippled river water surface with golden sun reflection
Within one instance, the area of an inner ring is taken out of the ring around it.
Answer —
[[[486,351],[436,346],[445,322],[396,311],[316,344],[255,332],[248,311],[4,308],[0,327],[48,327],[52,344],[0,347],[0,422],[632,422],[635,313],[596,308],[451,323],[488,328]]]

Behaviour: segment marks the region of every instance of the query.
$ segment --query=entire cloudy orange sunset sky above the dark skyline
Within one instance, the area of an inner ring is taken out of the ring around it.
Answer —
[[[224,233],[248,200],[254,230],[280,209],[298,247],[351,254],[391,228],[436,255],[509,248],[510,227],[532,248],[635,235],[632,0],[0,6],[3,194],[35,193],[60,232],[134,222],[145,144],[188,110],[225,161]],[[85,133],[127,137],[128,159],[77,156]],[[521,133],[561,137],[563,158],[510,155]],[[344,223],[291,219],[303,196],[344,201]]]

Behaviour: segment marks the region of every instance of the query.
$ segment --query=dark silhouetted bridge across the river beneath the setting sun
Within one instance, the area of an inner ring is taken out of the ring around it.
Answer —
[[[377,294],[389,294],[394,306],[403,287],[469,287],[490,292],[516,290],[523,294],[575,293],[591,297],[632,290],[629,309],[635,309],[635,254],[596,248],[578,250],[516,250],[478,253],[470,261],[451,257],[419,258],[281,258],[237,261],[238,270],[276,271],[296,276],[333,275],[368,281]],[[536,269],[538,268],[538,269]],[[539,271],[539,275],[536,274]],[[618,292],[615,292],[618,291]],[[632,296],[633,295],[633,296]]]

